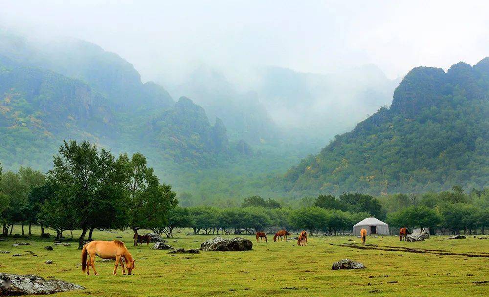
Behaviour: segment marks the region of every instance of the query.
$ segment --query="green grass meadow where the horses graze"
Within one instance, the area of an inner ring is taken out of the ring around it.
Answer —
[[[17,230],[16,230],[17,229]],[[16,226],[14,233],[19,231]],[[35,233],[39,234],[37,228]],[[69,232],[68,232],[69,234]],[[75,232],[75,236],[78,232]],[[38,236],[27,239],[9,237],[0,241],[0,271],[16,274],[37,274],[55,277],[86,287],[83,291],[59,293],[57,296],[483,296],[489,284],[489,258],[455,255],[434,255],[399,251],[360,250],[337,244],[359,243],[356,237],[310,237],[309,245],[297,246],[295,241],[256,243],[245,252],[201,252],[170,255],[168,251],[151,250],[143,245],[131,246],[132,234],[95,232],[94,239],[113,240],[123,236],[136,259],[132,276],[123,276],[120,268],[112,275],[114,262],[101,263],[97,258],[99,276],[87,276],[80,266],[80,251],[55,246],[44,250],[52,241]],[[446,237],[446,236],[445,236]],[[444,240],[432,236],[424,242],[400,242],[397,237],[368,237],[367,244],[438,249],[454,253],[489,252],[489,240],[472,237]],[[478,236],[479,237],[479,236]],[[175,248],[197,248],[203,235],[176,233],[169,244]],[[270,238],[271,239],[271,238]],[[29,246],[12,247],[18,241]],[[177,242],[173,242],[176,240]],[[272,240],[271,240],[272,241]],[[33,251],[37,257],[25,251]],[[20,253],[21,257],[12,257]],[[401,256],[402,255],[402,256]],[[489,254],[486,254],[489,255]],[[350,258],[367,267],[362,270],[331,270],[334,261]],[[51,265],[45,264],[52,260]],[[394,283],[395,282],[395,283]],[[298,288],[299,290],[283,289]],[[305,290],[307,288],[307,290]]]

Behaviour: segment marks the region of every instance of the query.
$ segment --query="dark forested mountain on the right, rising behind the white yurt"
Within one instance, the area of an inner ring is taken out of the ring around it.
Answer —
[[[291,168],[287,191],[373,194],[489,183],[489,58],[411,70],[389,109]]]

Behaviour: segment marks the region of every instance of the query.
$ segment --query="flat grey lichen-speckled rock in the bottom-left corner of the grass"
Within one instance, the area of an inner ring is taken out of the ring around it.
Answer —
[[[53,294],[83,289],[80,285],[58,279],[45,280],[35,275],[0,273],[0,296]]]

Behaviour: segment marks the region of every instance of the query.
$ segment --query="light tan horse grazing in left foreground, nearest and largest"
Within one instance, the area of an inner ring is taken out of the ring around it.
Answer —
[[[87,260],[87,254],[90,256],[90,259]],[[94,240],[90,243],[87,243],[82,250],[82,271],[85,272],[87,269],[87,275],[90,274],[90,266],[93,268],[93,272],[95,275],[98,275],[95,270],[95,256],[99,256],[102,259],[115,259],[115,267],[114,267],[114,276],[117,274],[117,266],[119,266],[119,262],[121,258],[124,257],[124,261],[126,262],[127,274],[130,275],[132,270],[135,268],[135,260],[131,256],[131,253],[124,245],[124,242],[119,240],[114,241],[102,241],[102,240]],[[122,274],[126,274],[124,270],[124,263],[122,263]]]

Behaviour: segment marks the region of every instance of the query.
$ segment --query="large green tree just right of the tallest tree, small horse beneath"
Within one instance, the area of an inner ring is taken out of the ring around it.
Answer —
[[[124,190],[128,196],[128,226],[134,232],[137,245],[138,230],[160,228],[166,225],[170,209],[177,206],[175,192],[170,185],[160,184],[153,168],[147,166],[146,157],[135,153],[129,159],[122,155]]]

